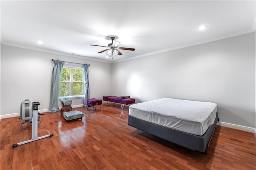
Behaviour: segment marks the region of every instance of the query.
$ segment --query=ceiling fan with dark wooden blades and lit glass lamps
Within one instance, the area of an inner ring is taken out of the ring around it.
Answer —
[[[93,45],[93,46],[99,46],[99,47],[107,47],[108,49],[105,49],[103,51],[100,51],[98,53],[103,53],[104,51],[108,51],[108,55],[113,56],[115,55],[122,55],[122,53],[119,50],[130,50],[134,51],[133,48],[126,48],[126,47],[118,47],[119,43],[118,41],[114,41],[115,37],[110,37],[112,39],[112,43],[108,44],[108,46],[102,46],[102,45]]]

